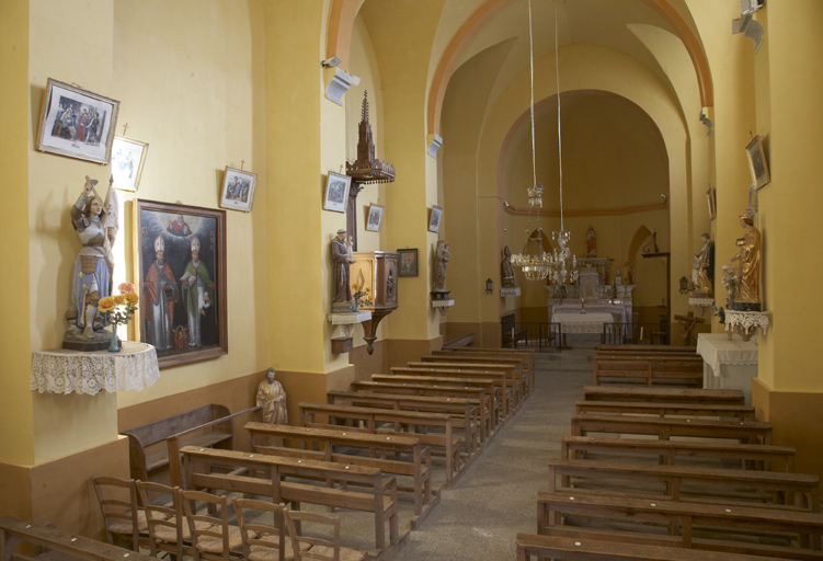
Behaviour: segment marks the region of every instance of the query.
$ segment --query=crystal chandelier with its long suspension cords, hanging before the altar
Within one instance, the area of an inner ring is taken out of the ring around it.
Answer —
[[[512,265],[519,267],[527,280],[542,280],[549,285],[563,285],[567,278],[578,282],[578,260],[569,250],[571,233],[563,228],[563,159],[560,136],[560,65],[558,59],[558,27],[557,1],[555,2],[555,65],[557,68],[557,111],[558,111],[558,163],[560,169],[560,231],[552,231],[551,239],[556,240],[560,249],[552,253],[544,250],[542,228],[540,226],[540,208],[542,207],[542,185],[537,183],[537,163],[535,152],[535,53],[531,36],[531,0],[528,0],[528,64],[530,75],[531,100],[529,111],[531,116],[531,185],[526,186],[528,194],[528,218],[526,221],[526,243],[523,252],[512,255]],[[531,208],[537,208],[537,230],[531,232]],[[538,251],[528,252],[529,242],[537,241]],[[569,259],[571,257],[571,262]]]

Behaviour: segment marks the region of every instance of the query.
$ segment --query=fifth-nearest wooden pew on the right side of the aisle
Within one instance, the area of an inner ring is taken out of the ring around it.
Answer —
[[[771,423],[758,421],[709,421],[595,413],[574,413],[571,421],[573,436],[585,436],[587,433],[650,434],[661,440],[668,440],[672,436],[698,436],[734,438],[744,444],[769,444],[771,439]]]

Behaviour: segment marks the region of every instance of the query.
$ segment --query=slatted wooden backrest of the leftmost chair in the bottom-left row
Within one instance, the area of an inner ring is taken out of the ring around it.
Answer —
[[[133,479],[94,476],[91,478],[103,514],[106,539],[113,546],[130,542],[139,551],[140,533],[147,531],[146,515],[137,503],[137,485]]]

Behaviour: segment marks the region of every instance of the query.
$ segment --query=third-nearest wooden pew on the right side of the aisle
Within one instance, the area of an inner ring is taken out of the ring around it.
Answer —
[[[759,501],[820,512],[818,476],[610,460],[550,459],[548,466],[549,492],[558,491],[558,477],[563,492],[570,490],[571,478],[576,478],[578,482],[582,480],[598,488],[607,486],[607,491],[601,491],[606,494],[640,492],[644,496],[690,502],[705,502],[706,499],[699,497],[711,497],[713,502],[722,499],[724,503],[745,506],[751,506],[752,501]],[[662,491],[644,492],[638,489],[639,484],[645,484],[643,489],[654,486]]]

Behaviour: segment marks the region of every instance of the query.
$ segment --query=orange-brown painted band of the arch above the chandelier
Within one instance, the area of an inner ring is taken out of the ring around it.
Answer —
[[[344,1],[344,0],[335,0]],[[348,0],[351,1],[351,0]],[[709,71],[709,61],[706,58],[700,42],[691,32],[683,16],[667,2],[667,0],[639,0],[666,20],[675,30],[677,36],[686,47],[686,51],[691,58],[697,76],[697,84],[700,90],[700,102],[704,107],[710,107],[715,104],[715,93],[711,84],[711,73]],[[501,10],[510,5],[514,0],[487,0],[480,8],[475,10],[471,16],[455,33],[451,41],[446,46],[437,64],[437,69],[432,78],[432,84],[428,89],[428,100],[426,105],[426,133],[439,135],[441,133],[441,114],[443,111],[443,100],[446,95],[448,82],[457,67],[457,62],[471,43],[471,39],[478,32]],[[351,35],[351,33],[350,33]],[[350,37],[351,38],[351,37]]]

